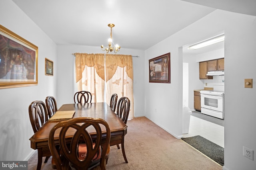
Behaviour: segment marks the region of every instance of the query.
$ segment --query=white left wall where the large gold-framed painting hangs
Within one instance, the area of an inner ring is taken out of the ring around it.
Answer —
[[[0,24],[38,46],[38,85],[0,89],[0,160],[26,160],[34,151],[28,106],[56,96],[56,45],[10,0],[0,1]],[[45,58],[54,62],[54,76],[45,75]]]

